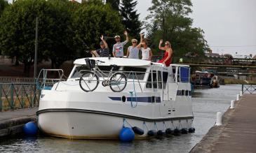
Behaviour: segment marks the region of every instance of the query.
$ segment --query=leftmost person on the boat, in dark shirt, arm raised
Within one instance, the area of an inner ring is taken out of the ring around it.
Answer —
[[[93,54],[93,57],[109,57],[109,47],[107,42],[104,40],[103,35],[100,37],[100,49],[93,50],[90,53]]]

